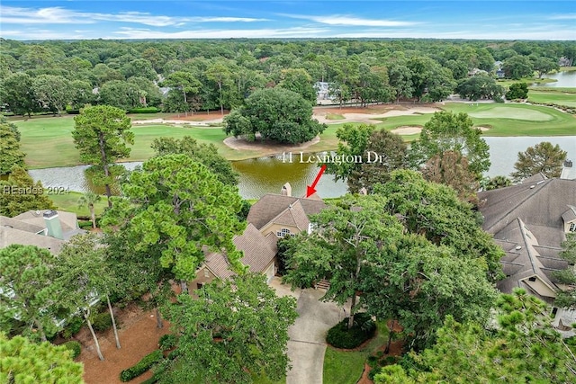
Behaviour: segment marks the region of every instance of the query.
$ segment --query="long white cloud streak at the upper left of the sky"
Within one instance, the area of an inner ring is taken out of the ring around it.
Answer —
[[[0,21],[4,24],[85,24],[97,21],[132,22],[153,27],[184,25],[187,22],[265,22],[267,19],[250,17],[202,16],[174,17],[142,12],[82,13],[62,7],[19,8],[0,5]]]

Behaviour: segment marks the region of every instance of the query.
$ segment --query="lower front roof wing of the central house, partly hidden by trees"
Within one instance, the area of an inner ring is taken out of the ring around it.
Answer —
[[[248,224],[242,235],[234,237],[234,245],[244,256],[240,261],[248,266],[250,272],[265,272],[266,267],[275,258],[277,238],[273,234],[264,236],[252,224]],[[228,279],[234,275],[229,269],[225,255],[213,252],[206,255],[206,266],[220,279]]]

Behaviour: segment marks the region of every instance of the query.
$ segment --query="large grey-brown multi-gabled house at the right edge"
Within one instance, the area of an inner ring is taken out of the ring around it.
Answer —
[[[501,291],[524,288],[554,305],[556,292],[576,289],[554,279],[555,271],[570,267],[558,254],[566,234],[576,232],[576,180],[536,174],[517,185],[480,192],[478,199],[484,230],[506,252]],[[565,311],[556,312],[560,317]]]

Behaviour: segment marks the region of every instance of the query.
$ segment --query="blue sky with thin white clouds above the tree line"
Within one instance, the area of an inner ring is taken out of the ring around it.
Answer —
[[[576,2],[2,0],[0,37],[576,40]]]

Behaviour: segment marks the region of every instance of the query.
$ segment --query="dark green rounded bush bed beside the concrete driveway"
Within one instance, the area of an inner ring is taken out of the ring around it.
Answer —
[[[329,329],[326,341],[336,348],[352,349],[374,336],[376,324],[365,313],[356,314],[354,325],[348,329],[348,317]]]

